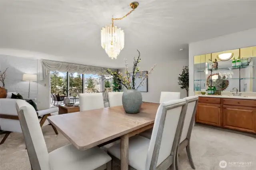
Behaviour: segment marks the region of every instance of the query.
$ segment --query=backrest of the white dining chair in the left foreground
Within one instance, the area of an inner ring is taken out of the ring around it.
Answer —
[[[32,169],[51,170],[48,150],[34,107],[24,100],[17,100],[16,109]]]

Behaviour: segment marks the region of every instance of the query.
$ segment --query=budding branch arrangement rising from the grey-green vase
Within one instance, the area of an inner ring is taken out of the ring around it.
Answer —
[[[138,51],[138,50],[137,50]],[[138,89],[140,86],[143,86],[145,84],[145,82],[143,82],[146,78],[148,78],[148,75],[152,73],[152,71],[154,70],[154,68],[156,67],[156,64],[154,64],[154,66],[148,71],[148,74],[143,74],[143,70],[140,71],[140,67],[139,67],[139,63],[141,62],[140,59],[140,51],[138,51],[138,57],[134,57],[134,61],[133,61],[133,67],[132,67],[132,73],[128,72],[128,64],[127,64],[127,59],[124,59],[125,62],[125,74],[126,76],[124,76],[124,74],[122,72],[113,72],[110,69],[106,69],[105,71],[110,74],[111,76],[113,76],[113,78],[115,78],[120,84],[122,84],[124,87],[126,87],[127,89]],[[138,85],[138,87],[135,87],[135,78],[137,73],[140,73],[140,76],[138,76],[138,78],[140,78],[140,84]]]

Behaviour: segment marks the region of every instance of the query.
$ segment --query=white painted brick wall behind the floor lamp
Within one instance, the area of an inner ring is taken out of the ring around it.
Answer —
[[[28,97],[29,82],[22,81],[26,74],[38,74],[38,60],[0,55],[0,70],[6,71],[5,88],[8,92],[20,93],[24,98]],[[2,86],[2,82],[0,82]],[[50,80],[49,76],[43,81],[30,82],[30,98],[36,98],[38,110],[50,107]]]

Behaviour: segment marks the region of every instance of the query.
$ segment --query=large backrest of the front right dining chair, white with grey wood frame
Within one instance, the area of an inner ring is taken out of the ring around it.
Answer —
[[[186,108],[185,99],[164,102],[158,107],[148,148],[146,170],[155,170],[169,156],[175,157]]]

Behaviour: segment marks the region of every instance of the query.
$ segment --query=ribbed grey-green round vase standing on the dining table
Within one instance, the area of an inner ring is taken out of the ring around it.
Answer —
[[[138,113],[142,104],[142,95],[140,91],[137,89],[128,89],[122,95],[122,103],[126,113]]]

